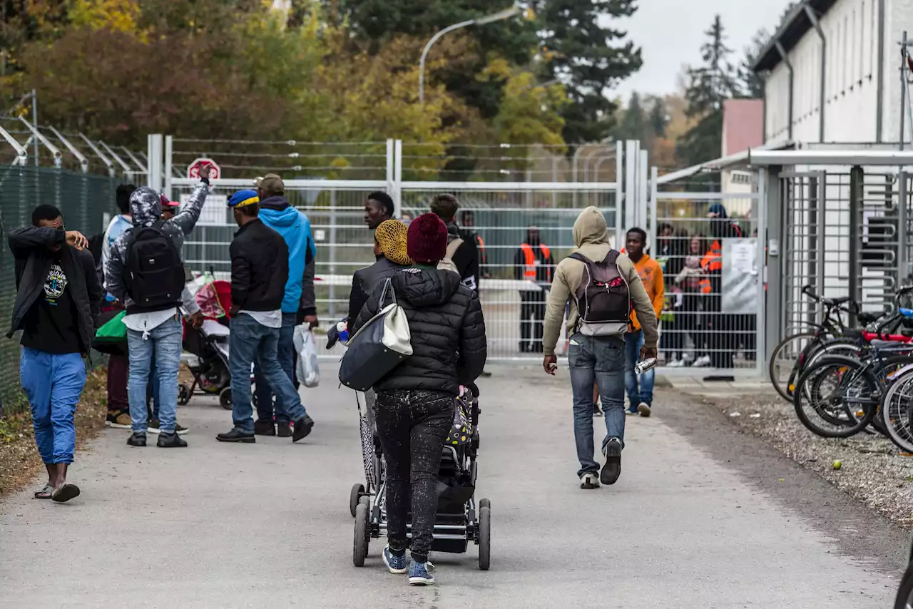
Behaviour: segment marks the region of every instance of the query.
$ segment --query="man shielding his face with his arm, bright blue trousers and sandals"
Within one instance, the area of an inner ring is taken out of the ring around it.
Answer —
[[[7,338],[22,331],[22,388],[32,407],[35,441],[47,468],[36,499],[68,501],[79,488],[67,482],[76,449],[73,417],[86,384],[89,354],[101,306],[101,286],[89,241],[64,230],[60,210],[38,205],[32,226],[9,234],[16,258],[16,304]]]

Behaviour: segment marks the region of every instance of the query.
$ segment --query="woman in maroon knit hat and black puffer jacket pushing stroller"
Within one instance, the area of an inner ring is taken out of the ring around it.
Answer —
[[[446,246],[447,229],[436,215],[420,215],[408,226],[406,255],[414,264],[395,272],[390,282],[409,321],[413,354],[373,387],[387,469],[389,522],[383,562],[392,573],[408,572],[409,583],[415,585],[434,583],[428,552],[437,509],[437,474],[454,421],[455,398],[461,384],[475,383],[487,355],[477,294],[463,286],[456,273],[436,268],[446,256]],[[386,304],[379,302],[385,283],[373,289],[352,321],[350,335]],[[411,564],[405,558],[410,488]]]

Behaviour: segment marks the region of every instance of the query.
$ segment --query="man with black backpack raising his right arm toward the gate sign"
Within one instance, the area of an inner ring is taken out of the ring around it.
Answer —
[[[196,324],[202,316],[185,289],[181,247],[209,194],[209,171],[208,165],[200,170],[200,184],[184,210],[170,220],[162,219],[162,197],[152,188],[143,186],[131,194],[133,227],[114,242],[105,266],[105,287],[127,309],[123,322],[130,351],[130,446],[146,446],[146,387],[153,353],[161,398],[157,444],[163,448],[187,446],[174,427],[184,335],[179,307],[183,305],[193,314]]]

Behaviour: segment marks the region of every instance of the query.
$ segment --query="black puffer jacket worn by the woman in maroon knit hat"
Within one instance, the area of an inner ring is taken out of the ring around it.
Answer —
[[[374,390],[424,389],[456,395],[459,385],[474,383],[488,352],[476,292],[462,285],[456,273],[434,268],[405,268],[390,280],[409,320],[413,352]],[[378,300],[385,283],[374,288],[350,335],[381,310]],[[383,304],[390,301],[388,293]]]

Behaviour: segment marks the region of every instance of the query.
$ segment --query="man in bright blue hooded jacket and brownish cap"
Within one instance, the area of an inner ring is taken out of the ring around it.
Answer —
[[[310,234],[308,216],[289,204],[285,197],[285,184],[275,173],[268,173],[257,180],[257,194],[260,198],[259,218],[266,226],[275,230],[285,239],[289,247],[289,280],[285,297],[282,299],[282,328],[279,330],[278,361],[282,369],[295,380],[295,345],[292,341],[295,326],[308,323],[317,325],[317,303],[314,297],[314,268],[317,247]],[[257,383],[257,421],[254,433],[259,436],[291,436],[288,408],[282,400],[276,399],[275,425],[273,421],[273,391],[266,378],[255,369]]]

